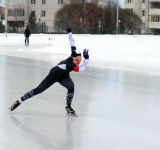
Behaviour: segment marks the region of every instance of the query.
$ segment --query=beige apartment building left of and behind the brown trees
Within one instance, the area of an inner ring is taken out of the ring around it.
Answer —
[[[5,27],[11,27],[15,24],[25,26],[30,12],[35,13],[37,22],[39,18],[42,19],[43,26],[53,27],[54,16],[57,10],[62,8],[64,4],[91,2],[98,6],[102,2],[106,4],[106,1],[108,0],[6,0]],[[18,14],[15,14],[15,8],[18,9]]]

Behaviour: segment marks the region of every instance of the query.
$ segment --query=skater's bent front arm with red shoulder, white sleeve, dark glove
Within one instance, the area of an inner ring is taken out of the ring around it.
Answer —
[[[89,62],[89,54],[88,54],[88,50],[84,50],[83,51],[83,57],[85,58],[84,62],[83,62],[83,65],[82,66],[75,66],[74,67],[74,71],[75,72],[84,72],[86,70],[86,67],[87,67],[87,64]]]

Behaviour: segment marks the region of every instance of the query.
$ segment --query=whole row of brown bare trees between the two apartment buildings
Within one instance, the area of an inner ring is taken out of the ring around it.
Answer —
[[[100,8],[93,3],[64,5],[56,12],[54,26],[61,27],[71,24],[75,28],[83,28],[83,32],[100,29],[105,33],[115,33],[117,9],[116,5]],[[136,32],[141,28],[142,20],[132,10],[119,9],[120,32]],[[95,31],[96,32],[96,31]]]

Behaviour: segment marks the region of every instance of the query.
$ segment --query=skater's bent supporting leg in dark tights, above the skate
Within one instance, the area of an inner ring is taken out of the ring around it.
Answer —
[[[74,83],[73,83],[72,79],[70,78],[70,76],[68,76],[68,77],[64,78],[59,83],[68,89],[67,96],[66,96],[67,106],[71,106],[72,99],[74,96]]]

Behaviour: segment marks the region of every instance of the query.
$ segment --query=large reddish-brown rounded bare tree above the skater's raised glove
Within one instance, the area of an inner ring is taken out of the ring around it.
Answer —
[[[75,28],[83,27],[83,31],[88,33],[92,28],[98,30],[99,20],[101,20],[101,27],[103,27],[103,18],[103,9],[98,8],[93,3],[86,3],[86,9],[84,9],[83,4],[71,3],[57,11],[54,25],[58,27],[72,24],[72,27]],[[79,30],[76,31],[79,32]]]

